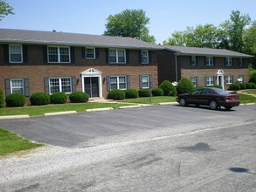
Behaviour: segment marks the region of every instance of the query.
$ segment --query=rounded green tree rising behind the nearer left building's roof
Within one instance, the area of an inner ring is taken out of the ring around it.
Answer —
[[[123,10],[121,13],[107,17],[104,35],[137,38],[155,43],[154,36],[149,35],[149,17],[144,10]]]

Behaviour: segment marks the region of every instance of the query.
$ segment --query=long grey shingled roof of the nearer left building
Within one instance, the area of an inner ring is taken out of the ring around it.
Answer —
[[[148,50],[163,49],[163,46],[149,44],[147,42],[135,38],[86,35],[68,32],[27,31],[13,29],[0,29],[0,43],[80,45]]]

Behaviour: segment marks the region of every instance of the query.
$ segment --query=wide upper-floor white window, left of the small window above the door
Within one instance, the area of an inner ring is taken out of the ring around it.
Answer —
[[[69,47],[48,47],[49,63],[70,63]]]

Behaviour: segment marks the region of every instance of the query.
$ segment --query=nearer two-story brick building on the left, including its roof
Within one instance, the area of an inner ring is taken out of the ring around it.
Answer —
[[[9,93],[82,91],[158,85],[157,51],[135,38],[0,29],[0,87]]]

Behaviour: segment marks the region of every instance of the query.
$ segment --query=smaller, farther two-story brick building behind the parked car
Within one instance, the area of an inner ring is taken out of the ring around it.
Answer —
[[[190,79],[195,86],[248,82],[252,56],[224,49],[165,46],[158,55],[158,80]]]

